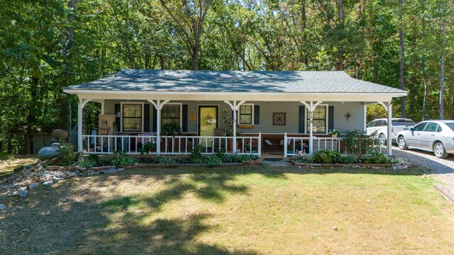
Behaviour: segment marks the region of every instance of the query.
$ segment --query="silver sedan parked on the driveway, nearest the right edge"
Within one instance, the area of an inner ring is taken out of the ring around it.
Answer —
[[[444,159],[454,154],[454,120],[428,120],[397,133],[399,149],[414,147]]]

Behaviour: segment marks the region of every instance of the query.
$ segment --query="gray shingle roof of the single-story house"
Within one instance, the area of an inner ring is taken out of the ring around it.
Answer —
[[[124,69],[114,77],[67,86],[67,90],[196,92],[402,93],[400,89],[353,79],[345,72],[241,72]]]

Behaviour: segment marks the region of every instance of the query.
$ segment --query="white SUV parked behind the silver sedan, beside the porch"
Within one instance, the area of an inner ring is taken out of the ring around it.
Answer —
[[[413,127],[415,123],[413,120],[406,118],[392,118],[391,120],[391,139],[393,142],[396,141],[397,133],[402,130],[408,130]],[[372,132],[377,132],[380,142],[386,143],[388,135],[388,120],[386,118],[372,120],[366,126],[367,135],[372,134]]]

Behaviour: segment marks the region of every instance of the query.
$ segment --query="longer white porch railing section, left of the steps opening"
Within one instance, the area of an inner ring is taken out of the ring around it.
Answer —
[[[256,137],[236,137],[236,147],[233,137],[219,136],[161,136],[160,148],[156,148],[157,136],[137,135],[82,135],[82,152],[85,154],[113,154],[123,151],[127,154],[141,154],[143,145],[152,142],[155,148],[148,154],[184,155],[191,154],[196,145],[201,145],[202,154],[214,154],[217,151],[226,154],[262,154],[262,140]]]

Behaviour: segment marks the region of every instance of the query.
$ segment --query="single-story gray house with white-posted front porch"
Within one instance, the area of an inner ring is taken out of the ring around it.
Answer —
[[[189,154],[200,144],[206,154],[221,150],[285,157],[341,150],[329,130],[365,130],[371,103],[381,103],[390,119],[392,98],[407,94],[345,72],[143,69],[125,69],[64,91],[79,97],[80,152],[138,154],[151,143],[152,154]],[[89,101],[101,103],[99,130],[83,133],[82,111]],[[163,133],[169,123],[182,132]]]

